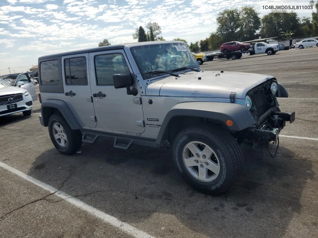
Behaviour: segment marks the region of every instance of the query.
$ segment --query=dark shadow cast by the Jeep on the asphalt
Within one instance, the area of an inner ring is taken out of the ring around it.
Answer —
[[[272,153],[275,149],[270,146]],[[80,153],[71,156],[48,150],[37,157],[28,175],[55,188],[67,180],[61,190],[124,222],[141,224],[162,213],[209,237],[281,237],[300,213],[306,180],[314,176],[304,171],[311,171],[312,163],[296,159],[284,147],[275,159],[267,151],[242,150],[243,175],[221,196],[189,188],[167,149],[133,145],[123,150],[104,140],[83,144]],[[162,225],[152,224],[158,226],[154,230]]]

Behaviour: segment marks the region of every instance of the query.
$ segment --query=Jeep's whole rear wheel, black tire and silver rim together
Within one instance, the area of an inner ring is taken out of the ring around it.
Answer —
[[[48,129],[51,141],[60,153],[74,154],[82,146],[82,133],[72,130],[62,116],[53,114],[49,118]]]

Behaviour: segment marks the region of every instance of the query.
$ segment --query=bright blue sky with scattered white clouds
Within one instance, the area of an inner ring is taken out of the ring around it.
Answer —
[[[111,44],[135,42],[132,34],[136,27],[144,27],[148,22],[157,22],[166,40],[180,37],[195,42],[216,29],[219,11],[244,4],[259,9],[259,3],[270,2],[280,3],[279,0],[0,0],[0,75],[8,74],[8,67],[11,73],[26,72],[42,55],[97,47],[104,38]]]

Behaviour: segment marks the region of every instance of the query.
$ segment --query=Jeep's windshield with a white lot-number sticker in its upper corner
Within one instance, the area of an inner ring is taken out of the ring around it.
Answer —
[[[135,46],[130,49],[143,79],[166,74],[183,67],[199,67],[195,57],[185,43],[159,43]],[[161,73],[153,71],[159,71]]]

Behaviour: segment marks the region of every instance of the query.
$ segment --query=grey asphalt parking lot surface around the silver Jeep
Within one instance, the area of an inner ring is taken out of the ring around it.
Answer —
[[[296,120],[281,131],[275,158],[243,146],[242,177],[229,193],[209,196],[183,182],[167,149],[116,149],[101,138],[75,155],[59,154],[36,101],[29,117],[0,117],[0,237],[316,238],[318,47],[213,60],[202,68],[273,75],[288,89],[280,109],[295,111]],[[79,201],[96,210],[80,209]],[[113,217],[124,223],[114,227],[107,222]],[[134,236],[125,233],[127,225],[136,228]]]

